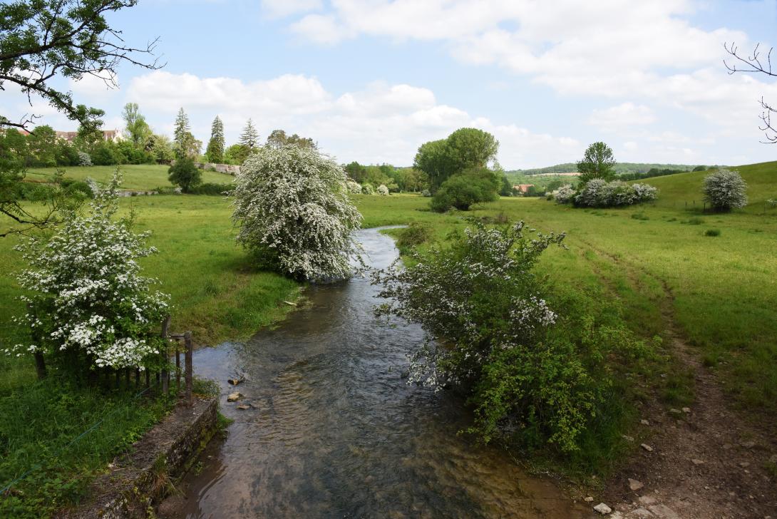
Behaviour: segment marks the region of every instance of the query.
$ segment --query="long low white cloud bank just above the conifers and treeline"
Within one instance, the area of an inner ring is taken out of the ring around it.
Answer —
[[[312,137],[323,152],[343,162],[410,165],[419,145],[445,138],[459,127],[493,133],[501,143],[499,160],[507,168],[565,162],[582,149],[571,138],[535,134],[516,124],[472,116],[461,108],[437,103],[430,89],[405,84],[373,82],[335,96],[317,79],[304,75],[246,83],[154,71],[133,79],[127,100],[141,103],[150,122],[168,133],[180,106],[189,114],[194,134],[203,141],[217,113],[224,120],[228,141],[236,141],[252,117],[263,136],[283,128]]]

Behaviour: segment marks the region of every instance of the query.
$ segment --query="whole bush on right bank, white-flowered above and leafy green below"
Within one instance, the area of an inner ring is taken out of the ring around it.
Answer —
[[[482,441],[509,437],[577,451],[611,386],[608,355],[643,348],[625,328],[586,315],[584,305],[573,315],[551,308],[534,267],[564,237],[527,231],[523,222],[486,228],[473,221],[448,246],[411,253],[406,267],[373,275],[389,300],[375,312],[426,332],[410,357],[409,383],[467,395],[476,413],[469,431]]]

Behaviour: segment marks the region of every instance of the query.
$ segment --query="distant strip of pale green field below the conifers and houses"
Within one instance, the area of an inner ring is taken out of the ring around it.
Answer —
[[[172,187],[167,179],[167,170],[169,166],[156,164],[125,164],[118,166],[124,172],[124,183],[122,188],[126,190],[148,191],[157,187]],[[95,179],[98,182],[107,182],[116,170],[115,165],[91,165],[91,166],[71,166],[63,168],[64,176],[85,180],[87,178]],[[28,181],[46,182],[56,171],[55,168],[32,168],[27,170],[26,179]],[[203,183],[232,183],[234,179],[231,175],[217,173],[212,171],[202,172]]]

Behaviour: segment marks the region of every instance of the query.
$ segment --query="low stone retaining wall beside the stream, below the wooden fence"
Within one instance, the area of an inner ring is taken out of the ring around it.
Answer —
[[[197,399],[192,407],[179,404],[135,442],[131,453],[114,460],[90,486],[90,498],[61,517],[70,519],[134,519],[173,489],[190,462],[218,430],[218,402]]]

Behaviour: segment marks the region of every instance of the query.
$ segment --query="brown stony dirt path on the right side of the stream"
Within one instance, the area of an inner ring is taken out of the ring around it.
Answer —
[[[605,256],[636,283],[635,267]],[[716,375],[685,343],[674,320],[671,288],[661,283],[665,336],[674,356],[693,374],[695,402],[671,409],[653,399],[643,407],[648,449],[636,450],[596,503],[611,507],[608,517],[777,519],[777,477],[766,468],[768,463],[777,466],[777,431],[733,409]]]

